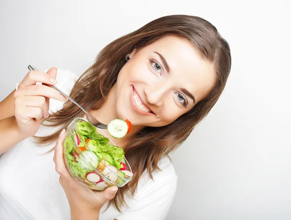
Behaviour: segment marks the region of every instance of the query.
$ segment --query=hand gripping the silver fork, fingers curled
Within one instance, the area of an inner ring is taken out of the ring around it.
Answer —
[[[65,101],[66,98],[57,90],[46,85],[55,85],[57,68],[50,68],[47,73],[30,71],[14,93],[15,118],[19,132],[24,137],[33,136],[43,121],[49,116],[49,98]]]

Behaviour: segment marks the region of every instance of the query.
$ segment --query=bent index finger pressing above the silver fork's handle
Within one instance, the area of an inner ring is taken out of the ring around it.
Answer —
[[[50,68],[48,73],[41,71],[30,71],[18,85],[18,88],[23,86],[35,85],[36,83],[46,83],[49,85],[55,85],[57,68]]]

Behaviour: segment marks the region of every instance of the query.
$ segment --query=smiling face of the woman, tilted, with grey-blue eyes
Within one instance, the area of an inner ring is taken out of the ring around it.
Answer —
[[[132,51],[116,83],[116,111],[133,125],[159,127],[189,111],[215,83],[214,66],[188,40],[165,36]]]

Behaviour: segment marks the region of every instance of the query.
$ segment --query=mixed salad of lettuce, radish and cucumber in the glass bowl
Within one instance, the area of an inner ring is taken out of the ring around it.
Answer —
[[[132,179],[122,148],[110,144],[89,121],[76,121],[75,126],[64,140],[67,166],[74,178],[96,190],[124,186]]]

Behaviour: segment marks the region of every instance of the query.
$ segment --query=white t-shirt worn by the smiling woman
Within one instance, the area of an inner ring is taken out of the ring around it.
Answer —
[[[77,75],[58,70],[57,86],[67,94],[78,79]],[[50,100],[50,112],[63,107],[64,102]],[[36,135],[45,136],[57,128],[40,126]],[[16,144],[0,157],[0,220],[70,220],[70,208],[65,192],[55,171],[54,144],[39,147],[33,138]],[[145,172],[133,199],[126,198],[129,208],[121,213],[113,206],[105,212],[102,207],[99,220],[164,220],[174,199],[177,175],[167,157],[159,162],[162,171],[153,174],[154,181]]]

